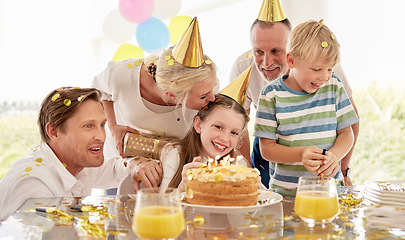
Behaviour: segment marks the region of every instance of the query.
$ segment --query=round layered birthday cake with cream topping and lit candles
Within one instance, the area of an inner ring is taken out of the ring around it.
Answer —
[[[209,161],[187,171],[187,202],[213,206],[256,205],[259,171],[229,161]]]

